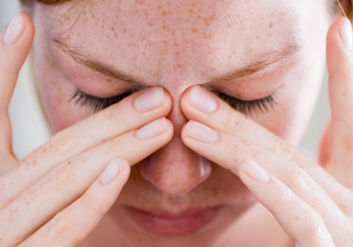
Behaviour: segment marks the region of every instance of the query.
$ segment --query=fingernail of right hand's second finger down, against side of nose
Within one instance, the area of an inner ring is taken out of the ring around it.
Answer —
[[[186,135],[203,143],[215,143],[219,138],[217,131],[196,121],[189,121]]]

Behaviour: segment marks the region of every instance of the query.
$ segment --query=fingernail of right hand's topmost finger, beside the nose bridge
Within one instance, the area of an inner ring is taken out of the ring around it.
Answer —
[[[217,102],[210,92],[200,86],[194,86],[191,90],[190,105],[201,112],[213,112],[217,108]]]

